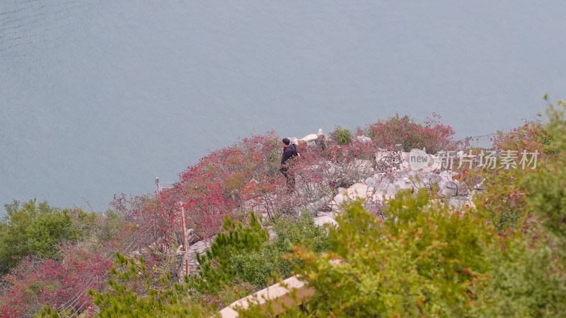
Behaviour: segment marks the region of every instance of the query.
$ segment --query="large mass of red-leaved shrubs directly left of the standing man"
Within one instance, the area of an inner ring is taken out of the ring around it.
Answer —
[[[252,179],[277,177],[279,143],[275,133],[253,136],[235,146],[219,149],[180,173],[180,181],[158,196],[168,211],[170,225],[180,228],[179,202],[185,206],[185,222],[200,237],[219,231],[224,216],[243,206],[242,189]],[[236,217],[237,218],[237,217]]]

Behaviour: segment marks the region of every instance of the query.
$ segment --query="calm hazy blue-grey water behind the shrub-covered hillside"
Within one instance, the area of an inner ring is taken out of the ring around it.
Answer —
[[[566,98],[566,1],[0,0],[0,203],[103,210],[251,134]],[[4,213],[1,211],[0,213]]]

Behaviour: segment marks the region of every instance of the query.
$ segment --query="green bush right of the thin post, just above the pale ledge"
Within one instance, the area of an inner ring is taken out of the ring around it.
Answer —
[[[282,256],[294,245],[318,252],[328,249],[326,230],[316,226],[308,213],[299,219],[284,216],[272,225],[277,237],[267,240],[267,231],[253,213],[248,226],[226,218],[226,232],[216,237],[205,254],[197,256],[200,273],[190,278],[191,284],[205,295],[220,293],[237,282],[250,283],[258,290],[267,285],[271,276],[291,275],[294,266]]]

